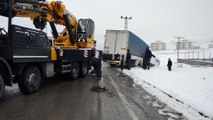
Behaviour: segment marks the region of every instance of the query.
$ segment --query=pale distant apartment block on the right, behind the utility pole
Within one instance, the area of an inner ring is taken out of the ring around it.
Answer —
[[[177,49],[178,50],[188,50],[192,49],[192,42],[188,40],[181,40],[177,43]]]

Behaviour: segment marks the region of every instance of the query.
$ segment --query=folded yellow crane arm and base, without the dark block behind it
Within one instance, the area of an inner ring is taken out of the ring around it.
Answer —
[[[46,22],[66,26],[62,33],[55,37],[55,44],[76,47],[75,36],[78,23],[76,18],[66,10],[66,7],[61,2],[51,1],[46,4],[44,1],[18,1],[14,5],[14,9],[15,17],[29,17],[33,20],[35,27],[39,29],[43,29]]]

